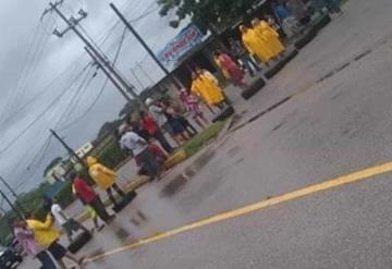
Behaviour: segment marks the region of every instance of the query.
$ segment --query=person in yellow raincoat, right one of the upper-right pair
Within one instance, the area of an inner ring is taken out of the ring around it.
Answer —
[[[285,48],[279,39],[278,32],[274,30],[266,21],[255,19],[252,22],[252,25],[256,33],[266,41],[266,45],[269,50],[272,51],[273,57],[281,56],[284,52]]]

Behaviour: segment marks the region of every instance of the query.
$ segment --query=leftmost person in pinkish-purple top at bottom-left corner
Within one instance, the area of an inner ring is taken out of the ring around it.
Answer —
[[[41,264],[41,269],[56,269],[56,264],[48,252],[38,244],[34,237],[34,232],[27,227],[25,220],[12,221],[13,235],[23,250],[30,257],[37,258]]]

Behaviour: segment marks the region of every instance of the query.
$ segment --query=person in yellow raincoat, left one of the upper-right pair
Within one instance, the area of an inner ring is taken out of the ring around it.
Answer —
[[[267,45],[262,36],[255,29],[248,28],[244,25],[240,26],[242,41],[250,54],[256,56],[261,62],[268,65],[268,62],[273,58],[273,52]]]

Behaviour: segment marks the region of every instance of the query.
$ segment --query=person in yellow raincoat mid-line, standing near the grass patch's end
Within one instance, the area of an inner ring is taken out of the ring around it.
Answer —
[[[225,97],[218,85],[218,80],[208,71],[197,69],[192,73],[191,90],[208,106],[222,108]]]

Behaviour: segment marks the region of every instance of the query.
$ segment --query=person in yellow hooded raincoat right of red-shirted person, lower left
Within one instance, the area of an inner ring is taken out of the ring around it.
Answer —
[[[126,194],[115,183],[118,175],[113,170],[99,163],[98,160],[91,156],[87,157],[87,164],[89,175],[100,188],[107,192],[109,199],[113,203],[114,206],[118,206],[119,204],[114,198],[112,188],[122,198],[126,198]]]

